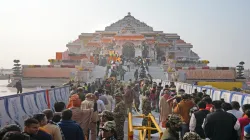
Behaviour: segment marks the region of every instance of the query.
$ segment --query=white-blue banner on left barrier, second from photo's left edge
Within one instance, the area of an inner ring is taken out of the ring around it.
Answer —
[[[6,98],[6,107],[7,113],[9,117],[22,128],[24,128],[24,120],[26,120],[29,116],[23,111],[21,107],[21,101],[19,95],[8,96]]]

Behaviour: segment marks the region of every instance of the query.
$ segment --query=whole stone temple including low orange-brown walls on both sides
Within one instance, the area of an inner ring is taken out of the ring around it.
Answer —
[[[57,52],[56,58],[48,60],[49,65],[23,65],[23,85],[32,87],[39,83],[49,87],[49,83],[57,81],[59,86],[68,79],[91,82],[105,76],[106,67],[102,66],[107,66],[107,63],[139,56],[161,62],[162,74],[170,81],[236,79],[235,68],[208,67],[209,61],[200,60],[192,51],[193,45],[178,34],[154,31],[131,13],[102,31],[80,34],[66,47],[66,51]]]

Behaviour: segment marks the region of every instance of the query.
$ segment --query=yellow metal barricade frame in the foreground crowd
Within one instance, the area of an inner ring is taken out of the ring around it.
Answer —
[[[134,118],[147,118],[148,120],[148,125],[147,126],[135,126],[133,125],[133,117]],[[152,123],[154,124],[155,128],[152,127]],[[134,132],[133,130],[138,130],[139,131],[139,140],[145,140],[146,136],[148,135],[148,140],[151,139],[151,131],[152,130],[157,130],[158,134],[159,134],[159,140],[162,137],[162,130],[159,127],[159,125],[157,124],[157,122],[155,121],[154,116],[149,113],[148,116],[145,116],[144,114],[141,115],[136,115],[136,116],[132,116],[131,113],[128,114],[128,140],[133,140],[134,138]]]

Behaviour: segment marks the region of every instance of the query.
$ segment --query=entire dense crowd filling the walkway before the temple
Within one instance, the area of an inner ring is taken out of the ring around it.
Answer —
[[[0,140],[123,140],[128,113],[152,111],[160,114],[161,140],[250,140],[250,104],[212,101],[206,91],[189,95],[176,91],[173,82],[162,87],[147,79],[70,85],[68,104],[57,102],[53,110],[34,114],[23,130],[3,127]]]

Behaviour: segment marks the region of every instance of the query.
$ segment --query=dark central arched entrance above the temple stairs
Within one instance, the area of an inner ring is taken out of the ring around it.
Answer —
[[[122,45],[122,56],[126,59],[135,57],[135,45],[132,42],[126,42]]]

